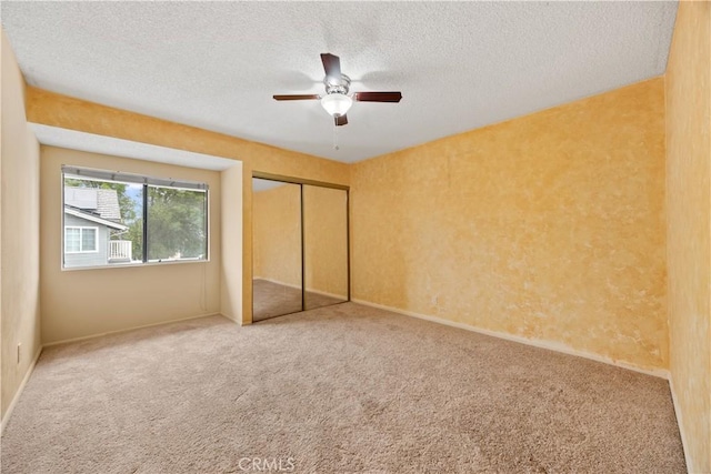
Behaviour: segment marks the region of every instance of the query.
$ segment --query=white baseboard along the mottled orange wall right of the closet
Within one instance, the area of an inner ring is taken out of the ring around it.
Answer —
[[[455,321],[450,321],[450,320],[445,320],[445,319],[442,319],[442,317],[429,316],[427,314],[414,313],[412,311],[400,310],[400,309],[397,309],[397,307],[391,307],[391,306],[385,306],[385,305],[382,305],[382,304],[371,303],[369,301],[363,301],[363,300],[352,299],[351,301],[353,303],[363,304],[365,306],[371,306],[371,307],[377,307],[379,310],[391,311],[393,313],[403,314],[405,316],[417,317],[417,319],[430,321],[430,322],[433,322],[433,323],[439,323],[439,324],[444,324],[444,325],[448,325],[448,326],[459,327],[459,329],[462,329],[462,330],[472,331],[472,332],[475,332],[475,333],[479,333],[479,334],[490,335],[490,336],[503,339],[503,340],[507,340],[507,341],[519,342],[521,344],[532,345],[534,347],[541,347],[541,349],[548,349],[550,351],[562,352],[563,354],[575,355],[575,356],[589,359],[589,360],[592,360],[592,361],[595,361],[595,362],[602,362],[602,363],[605,363],[605,364],[614,365],[614,366],[627,369],[627,370],[630,370],[630,371],[640,372],[640,373],[643,373],[643,374],[647,374],[647,375],[652,375],[652,376],[655,376],[655,377],[661,377],[661,379],[669,380],[669,371],[667,371],[667,370],[639,367],[637,365],[633,365],[633,364],[630,364],[630,363],[627,363],[627,362],[622,362],[622,361],[615,361],[615,360],[612,360],[612,359],[608,359],[608,357],[604,357],[604,356],[599,355],[599,354],[593,354],[593,353],[584,352],[584,351],[578,351],[578,350],[569,347],[565,344],[562,344],[560,342],[543,341],[543,340],[538,340],[538,339],[527,339],[527,337],[522,337],[522,336],[519,336],[519,335],[513,335],[513,334],[509,334],[509,333],[485,330],[485,329],[482,329],[482,327],[477,327],[477,326],[472,326],[472,325],[464,324],[464,323],[458,323]]]

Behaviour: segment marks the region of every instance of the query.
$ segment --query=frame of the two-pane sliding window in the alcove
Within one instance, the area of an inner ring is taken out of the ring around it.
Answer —
[[[99,264],[99,265],[81,265],[81,266],[67,266],[67,262],[64,259],[64,254],[87,254],[87,253],[98,253],[99,252],[99,228],[94,228],[96,231],[96,244],[97,250],[94,251],[84,251],[84,252],[67,252],[67,234],[66,230],[62,232],[62,243],[61,243],[61,270],[62,271],[74,271],[74,270],[96,270],[96,269],[114,269],[114,268],[134,268],[134,266],[152,266],[152,265],[166,265],[166,264],[180,264],[180,263],[208,263],[211,259],[211,244],[210,244],[210,234],[211,234],[211,219],[210,219],[210,210],[211,210],[211,193],[210,186],[207,182],[198,182],[198,181],[189,181],[182,179],[172,179],[172,178],[156,178],[143,174],[136,174],[129,172],[114,172],[108,170],[100,169],[91,169],[84,167],[73,167],[62,164],[61,167],[61,223],[62,228],[82,228],[80,225],[64,225],[66,212],[64,212],[64,188],[66,188],[66,179],[78,179],[86,181],[98,181],[98,182],[109,182],[109,183],[119,183],[119,184],[139,184],[142,186],[142,209],[140,213],[140,218],[143,219],[143,235],[142,235],[142,245],[143,245],[143,255],[140,261],[132,261],[130,263],[113,263],[110,264]],[[187,259],[154,259],[148,260],[148,206],[147,206],[147,198],[148,198],[148,189],[149,188],[170,188],[176,190],[183,191],[198,191],[204,193],[204,204],[203,209],[203,221],[204,221],[204,254],[202,258],[187,258]],[[91,228],[91,226],[86,226]],[[80,232],[81,238],[81,232]],[[81,244],[81,243],[80,243]]]

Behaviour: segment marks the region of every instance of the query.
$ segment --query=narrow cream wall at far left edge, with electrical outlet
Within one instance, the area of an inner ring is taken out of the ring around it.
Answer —
[[[1,36],[0,405],[4,422],[7,410],[40,349],[40,189],[39,144],[24,118],[24,80],[4,32]],[[18,344],[21,344],[19,363]]]

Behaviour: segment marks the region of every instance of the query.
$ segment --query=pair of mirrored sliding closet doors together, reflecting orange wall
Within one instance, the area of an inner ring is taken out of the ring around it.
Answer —
[[[348,188],[254,173],[252,321],[350,301]]]

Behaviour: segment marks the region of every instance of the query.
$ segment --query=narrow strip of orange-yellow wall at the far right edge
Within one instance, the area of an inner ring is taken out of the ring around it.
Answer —
[[[665,85],[671,383],[689,472],[711,472],[711,3],[680,2]]]

